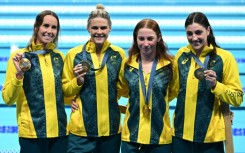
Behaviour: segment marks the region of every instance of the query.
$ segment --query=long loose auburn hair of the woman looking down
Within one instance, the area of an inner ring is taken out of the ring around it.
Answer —
[[[158,23],[152,19],[143,19],[140,22],[138,22],[134,28],[133,44],[131,48],[129,49],[129,58],[126,64],[129,64],[132,62],[133,56],[137,55],[138,56],[137,59],[140,57],[140,49],[138,48],[138,44],[137,44],[137,36],[138,36],[139,30],[142,28],[148,28],[148,29],[153,30],[156,33],[157,38],[158,39],[161,38],[160,41],[157,42],[157,45],[156,45],[156,57],[158,58],[158,60],[166,59],[172,62],[173,56],[168,53],[168,47],[166,43],[163,41],[161,30],[160,30]]]

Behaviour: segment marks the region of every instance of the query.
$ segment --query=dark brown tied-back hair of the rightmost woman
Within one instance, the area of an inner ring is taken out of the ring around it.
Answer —
[[[213,34],[212,27],[209,24],[209,21],[208,21],[208,18],[206,17],[206,15],[201,13],[201,12],[193,12],[193,13],[189,14],[185,20],[185,28],[187,28],[187,26],[189,26],[193,23],[200,24],[201,26],[203,26],[206,29],[208,29],[208,27],[210,27],[210,34],[207,38],[208,46],[210,44],[212,44],[212,46],[214,47],[214,52],[216,53],[216,47],[219,47],[219,45],[215,41],[215,37]]]

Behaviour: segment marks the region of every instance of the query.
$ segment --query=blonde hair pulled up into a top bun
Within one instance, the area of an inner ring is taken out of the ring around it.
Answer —
[[[88,21],[87,21],[87,28],[89,27],[90,25],[90,21],[91,19],[94,19],[94,18],[103,18],[103,19],[106,19],[108,21],[108,25],[109,27],[111,28],[111,19],[110,19],[110,15],[108,12],[105,11],[105,7],[102,5],[102,4],[97,4],[96,6],[96,10],[92,11],[90,14],[89,14],[89,18],[88,18]]]

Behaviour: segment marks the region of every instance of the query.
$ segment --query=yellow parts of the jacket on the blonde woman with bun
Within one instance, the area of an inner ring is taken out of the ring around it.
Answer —
[[[102,52],[100,55],[100,60],[98,60],[98,56],[96,54],[96,47],[93,42],[88,42],[86,45],[86,52],[91,56],[92,65],[93,67],[99,68],[102,64],[102,59],[104,58],[105,52],[108,48],[111,48],[113,52],[118,54],[122,59],[125,56],[124,50],[120,47],[112,45],[109,41],[106,41],[102,47]],[[113,94],[113,92],[116,91],[109,91],[108,90],[108,82],[110,76],[108,76],[108,65],[106,64],[104,68],[98,71],[94,71],[94,76],[92,77],[95,80],[95,87],[91,90],[91,93],[96,93],[96,105],[93,107],[93,109],[96,109],[95,112],[97,114],[97,124],[93,127],[96,127],[98,131],[94,131],[88,134],[88,129],[86,129],[86,125],[88,124],[85,120],[87,118],[84,117],[83,110],[86,109],[86,111],[89,113],[89,108],[87,108],[83,103],[88,103],[91,98],[89,96],[94,95],[87,95],[88,101],[82,101],[80,98],[80,91],[82,88],[85,88],[84,84],[82,86],[77,85],[77,79],[74,76],[73,68],[75,67],[74,61],[75,59],[78,60],[78,54],[81,54],[83,45],[77,46],[72,48],[68,51],[67,56],[65,58],[65,64],[64,64],[64,70],[63,70],[63,77],[62,77],[62,88],[66,96],[75,96],[76,103],[78,104],[78,110],[71,114],[70,116],[70,123],[69,123],[69,130],[71,133],[78,135],[78,136],[93,136],[93,137],[100,137],[100,136],[109,136],[111,134],[116,134],[121,132],[121,128],[119,128],[115,133],[111,132],[113,126],[110,123],[110,114],[109,114],[109,98],[110,95]],[[111,60],[113,57],[109,57],[108,60]],[[115,61],[120,62],[120,61]],[[121,64],[120,64],[121,65]],[[116,73],[119,73],[116,72]],[[116,74],[113,74],[116,75]],[[85,78],[86,82],[86,78]],[[90,83],[92,84],[92,82]],[[89,88],[89,85],[86,86],[86,88]],[[115,87],[116,88],[116,87]],[[82,96],[82,95],[81,95]],[[115,101],[116,102],[116,101]],[[92,105],[92,104],[91,104]],[[111,108],[111,109],[119,109],[119,108]],[[93,110],[94,111],[94,110]],[[91,119],[93,120],[93,119]],[[119,119],[120,120],[120,119]],[[115,129],[114,129],[115,130]]]

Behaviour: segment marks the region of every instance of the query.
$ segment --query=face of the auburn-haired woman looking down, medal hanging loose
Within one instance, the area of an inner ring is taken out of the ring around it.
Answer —
[[[137,44],[141,55],[155,57],[156,45],[159,41],[156,33],[152,29],[141,28],[137,35]]]

